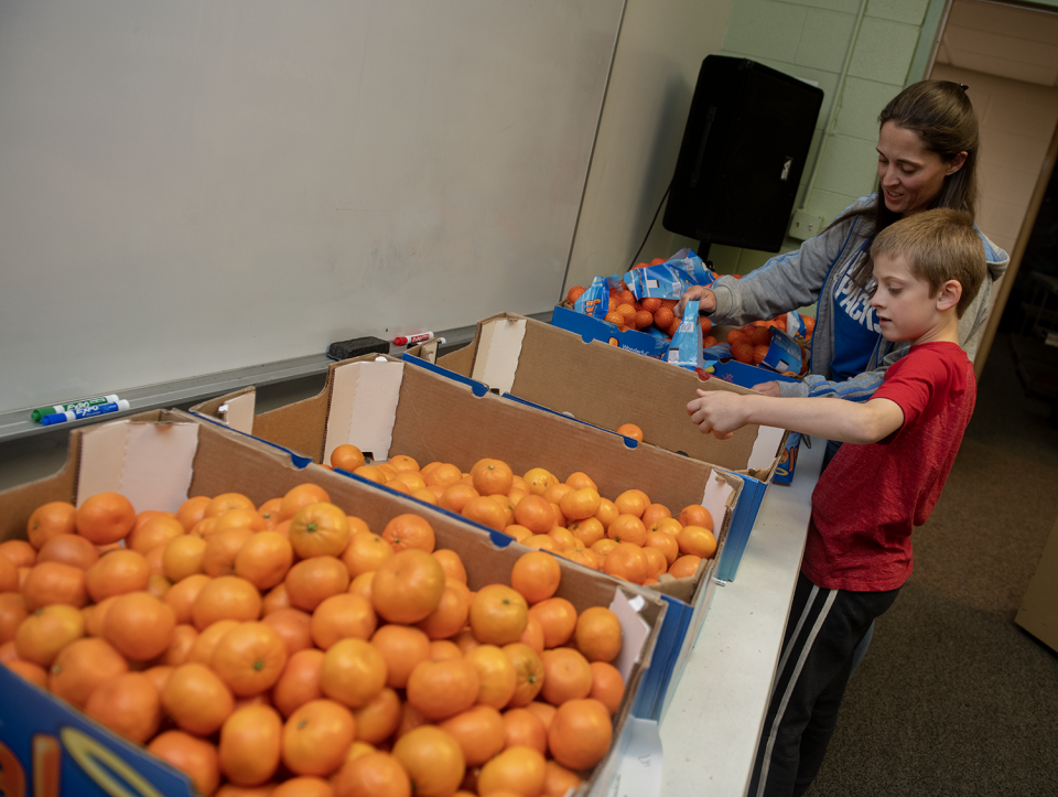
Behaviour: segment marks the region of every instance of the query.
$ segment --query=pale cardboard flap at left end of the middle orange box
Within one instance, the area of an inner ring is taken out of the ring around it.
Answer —
[[[339,365],[332,373],[323,461],[344,443],[388,460],[403,379],[403,363],[377,359]]]

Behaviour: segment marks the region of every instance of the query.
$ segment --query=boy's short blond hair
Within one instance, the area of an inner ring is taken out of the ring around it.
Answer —
[[[960,319],[987,273],[984,244],[973,219],[948,207],[922,211],[890,224],[871,245],[871,258],[878,255],[904,257],[911,274],[929,283],[931,297],[948,280],[957,280],[962,286],[962,298],[956,305]]]

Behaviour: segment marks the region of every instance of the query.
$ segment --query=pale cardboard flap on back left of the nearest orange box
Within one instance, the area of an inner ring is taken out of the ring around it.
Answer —
[[[176,511],[187,500],[197,423],[114,421],[85,431],[76,505],[97,493],[120,493],[139,513]]]

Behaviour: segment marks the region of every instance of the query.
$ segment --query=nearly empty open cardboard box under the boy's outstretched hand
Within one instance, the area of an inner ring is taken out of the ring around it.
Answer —
[[[430,359],[428,352],[418,348],[404,356]],[[478,322],[473,342],[435,364],[603,429],[635,423],[643,429],[646,443],[737,473],[745,483],[715,573],[721,581],[735,578],[760,503],[781,467],[787,432],[754,424],[739,429],[730,440],[717,440],[690,422],[687,402],[697,389],[751,392],[746,386],[721,379],[702,381],[687,368],[515,313]]]

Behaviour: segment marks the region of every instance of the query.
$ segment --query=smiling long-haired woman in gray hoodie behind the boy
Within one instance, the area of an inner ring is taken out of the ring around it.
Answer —
[[[873,283],[867,251],[874,236],[899,218],[932,207],[953,207],[975,217],[978,121],[964,86],[917,83],[885,107],[878,122],[876,193],[853,203],[797,251],[771,258],[744,279],[723,277],[711,288],[691,288],[676,308],[680,315],[689,299],[699,299],[699,311],[713,323],[744,324],[818,302],[811,365],[803,381],[767,381],[755,390],[868,399],[908,345],[882,337],[868,304]],[[971,360],[987,320],[993,283],[1010,263],[1007,254],[983,234],[981,240],[992,279],[959,324],[960,344]],[[829,448],[828,453],[833,451]]]

